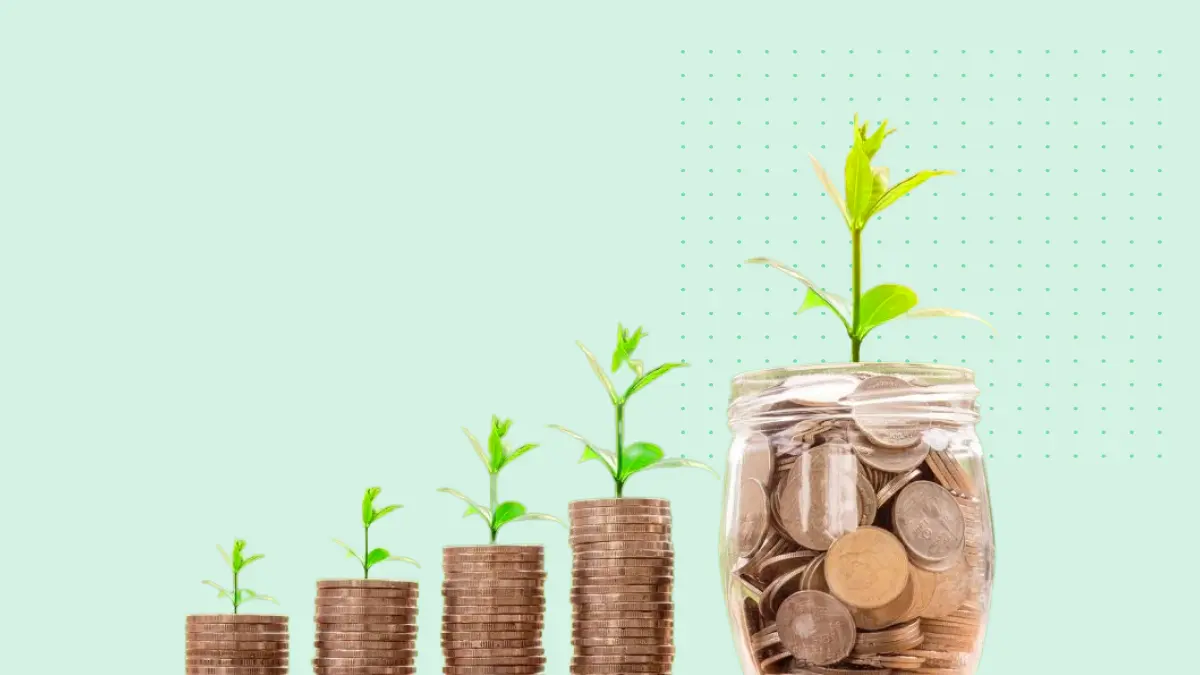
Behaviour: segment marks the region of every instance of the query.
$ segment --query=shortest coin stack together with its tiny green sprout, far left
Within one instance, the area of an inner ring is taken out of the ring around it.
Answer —
[[[188,675],[272,675],[288,671],[288,617],[266,614],[239,614],[247,602],[275,598],[241,586],[241,573],[263,558],[246,556],[246,542],[236,539],[233,550],[217,546],[233,573],[233,587],[216,581],[204,584],[233,605],[233,614],[193,614],[187,617],[186,671]],[[278,604],[278,603],[276,603]]]

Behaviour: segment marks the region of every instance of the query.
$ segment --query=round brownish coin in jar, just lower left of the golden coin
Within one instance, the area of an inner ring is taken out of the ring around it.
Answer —
[[[792,593],[775,615],[779,639],[797,661],[828,665],[850,656],[854,620],[836,598],[820,591]]]

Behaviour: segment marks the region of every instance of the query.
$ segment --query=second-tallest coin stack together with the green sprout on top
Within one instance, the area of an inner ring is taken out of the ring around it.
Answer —
[[[438,490],[466,502],[463,518],[479,516],[488,531],[487,545],[443,549],[442,652],[446,675],[533,675],[546,664],[541,646],[546,611],[542,548],[497,545],[496,539],[500,528],[511,522],[563,521],[532,513],[521,502],[500,501],[500,471],[536,448],[533,443],[511,448],[505,441],[511,428],[512,420],[493,416],[486,449],[463,429],[487,470],[487,506],[457,490]]]

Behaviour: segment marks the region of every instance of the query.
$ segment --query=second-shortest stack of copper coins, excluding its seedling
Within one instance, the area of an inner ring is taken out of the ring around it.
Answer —
[[[317,581],[317,675],[407,675],[415,671],[416,583],[388,579]]]

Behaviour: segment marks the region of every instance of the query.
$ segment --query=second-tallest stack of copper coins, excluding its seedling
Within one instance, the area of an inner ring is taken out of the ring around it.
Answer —
[[[546,665],[541,546],[446,546],[445,675],[533,675]]]

